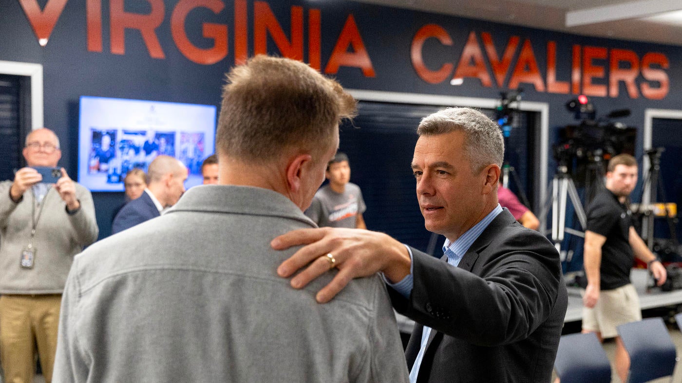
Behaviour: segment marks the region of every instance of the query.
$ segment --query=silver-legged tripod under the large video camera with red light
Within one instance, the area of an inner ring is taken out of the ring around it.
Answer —
[[[582,203],[580,202],[580,197],[578,197],[578,190],[576,189],[576,184],[573,178],[568,173],[566,165],[559,165],[557,167],[556,173],[554,173],[554,178],[548,186],[548,197],[547,201],[542,207],[542,212],[540,213],[540,227],[546,228],[547,214],[550,212],[550,207],[552,210],[552,229],[550,231],[544,231],[544,234],[552,233],[552,242],[554,242],[554,247],[557,248],[559,254],[561,254],[561,261],[566,260],[566,252],[561,251],[561,242],[563,242],[565,233],[571,235],[577,235],[578,237],[584,237],[584,232],[577,231],[570,227],[566,227],[566,203],[568,202],[567,197],[576,211],[578,220],[580,221],[580,227],[585,229],[587,225],[587,216],[585,216],[585,211],[582,208]],[[570,261],[570,260],[568,260]]]

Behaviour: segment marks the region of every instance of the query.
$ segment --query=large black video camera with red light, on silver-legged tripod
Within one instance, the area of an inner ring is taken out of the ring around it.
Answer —
[[[634,154],[637,129],[612,121],[613,118],[629,116],[629,110],[613,110],[606,118],[595,119],[595,107],[584,95],[566,103],[566,108],[574,112],[576,120],[581,121],[559,129],[559,141],[552,146],[552,152],[554,159],[565,165],[568,173],[574,176],[576,184],[585,179],[589,165],[602,166],[603,173],[612,156]]]

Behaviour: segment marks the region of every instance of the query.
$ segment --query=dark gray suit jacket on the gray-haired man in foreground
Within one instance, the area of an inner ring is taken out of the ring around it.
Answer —
[[[414,288],[389,288],[398,312],[418,324],[406,349],[411,368],[423,325],[434,331],[418,382],[549,382],[567,307],[559,254],[542,234],[504,210],[458,267],[413,251]]]

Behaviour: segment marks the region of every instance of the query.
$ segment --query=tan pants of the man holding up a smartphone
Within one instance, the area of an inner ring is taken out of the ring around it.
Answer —
[[[61,295],[0,296],[0,361],[5,383],[32,383],[35,346],[46,383],[52,381]]]

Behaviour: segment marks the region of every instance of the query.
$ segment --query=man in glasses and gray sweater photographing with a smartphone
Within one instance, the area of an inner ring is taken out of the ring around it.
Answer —
[[[61,159],[53,131],[29,133],[23,155],[28,166],[0,182],[0,363],[5,382],[33,382],[37,345],[50,382],[66,276],[98,227],[89,190],[53,171]]]

